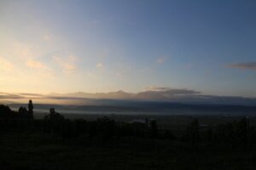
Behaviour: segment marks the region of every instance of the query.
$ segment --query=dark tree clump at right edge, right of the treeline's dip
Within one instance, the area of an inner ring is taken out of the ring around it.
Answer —
[[[222,144],[229,148],[248,149],[256,142],[256,129],[250,126],[248,117],[242,117],[239,121],[219,123],[213,127],[201,127],[195,119],[180,140],[192,145]]]

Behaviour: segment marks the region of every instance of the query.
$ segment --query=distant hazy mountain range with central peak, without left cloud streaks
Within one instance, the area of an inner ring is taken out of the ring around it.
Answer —
[[[239,96],[216,96],[201,94],[187,89],[168,89],[160,91],[143,91],[139,93],[126,93],[122,90],[109,93],[84,93],[73,94],[49,94],[61,98],[85,98],[85,99],[119,99],[139,101],[175,102],[186,104],[212,104],[212,105],[256,105],[256,98]]]

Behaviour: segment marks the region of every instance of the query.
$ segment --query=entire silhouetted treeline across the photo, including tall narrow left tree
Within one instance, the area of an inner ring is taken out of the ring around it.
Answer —
[[[108,142],[111,139],[169,139],[197,146],[198,144],[223,144],[229,147],[248,149],[256,143],[256,129],[250,126],[248,117],[237,122],[226,122],[216,126],[202,126],[197,119],[186,129],[175,134],[170,129],[158,126],[156,120],[145,122],[116,122],[104,116],[96,121],[84,119],[70,120],[61,116],[54,108],[43,120],[34,120],[32,101],[18,112],[8,106],[0,105],[0,132],[34,131],[48,134],[55,139],[99,139]]]

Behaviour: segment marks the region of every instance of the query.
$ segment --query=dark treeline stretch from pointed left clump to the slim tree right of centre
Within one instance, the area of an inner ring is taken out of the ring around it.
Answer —
[[[121,137],[157,138],[158,127],[156,121],[146,123],[115,122],[108,116],[96,121],[84,119],[69,120],[50,109],[49,115],[44,117],[44,133],[51,133],[63,139],[71,139],[81,135],[89,139],[100,138],[108,140]]]

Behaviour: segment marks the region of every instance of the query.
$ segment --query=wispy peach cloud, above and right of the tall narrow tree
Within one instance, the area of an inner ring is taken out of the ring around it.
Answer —
[[[67,58],[54,56],[55,63],[61,66],[62,71],[69,75],[76,71],[77,66],[75,65],[77,57],[74,55],[68,55]]]

